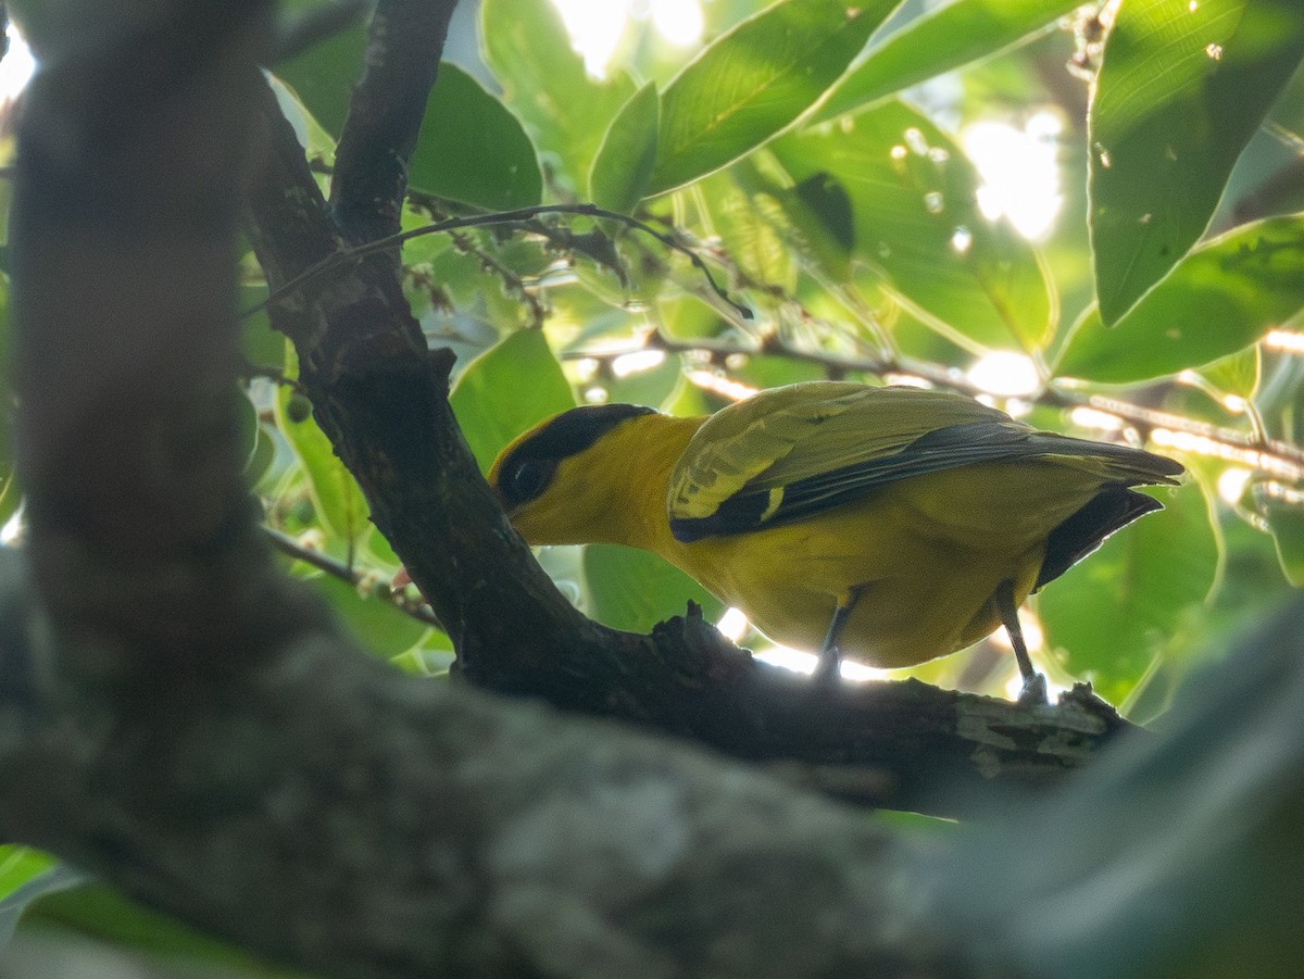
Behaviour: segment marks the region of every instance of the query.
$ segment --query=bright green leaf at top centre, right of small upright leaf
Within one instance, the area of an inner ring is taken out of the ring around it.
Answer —
[[[777,136],[819,102],[893,7],[781,0],[717,38],[661,96],[649,193],[705,176]]]

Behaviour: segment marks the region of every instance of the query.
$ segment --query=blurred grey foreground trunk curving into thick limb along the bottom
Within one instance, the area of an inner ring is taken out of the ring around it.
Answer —
[[[927,846],[357,652],[233,475],[262,7],[194,7],[47,57],[22,121],[0,833],[325,975],[1296,974],[1299,602],[1163,738]]]

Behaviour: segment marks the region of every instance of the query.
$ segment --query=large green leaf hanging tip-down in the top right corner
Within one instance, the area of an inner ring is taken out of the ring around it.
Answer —
[[[1101,318],[1114,325],[1200,239],[1304,55],[1299,0],[1128,0],[1089,116]]]

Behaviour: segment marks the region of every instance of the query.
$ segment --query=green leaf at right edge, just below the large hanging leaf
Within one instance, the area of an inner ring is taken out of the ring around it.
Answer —
[[[1106,329],[1073,326],[1055,373],[1127,383],[1198,368],[1258,340],[1304,306],[1304,215],[1267,218],[1213,239]]]

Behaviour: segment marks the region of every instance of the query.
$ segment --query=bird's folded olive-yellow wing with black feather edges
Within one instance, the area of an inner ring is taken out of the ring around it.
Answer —
[[[974,463],[1073,458],[1102,482],[1168,482],[1176,463],[1037,431],[964,395],[816,382],[767,391],[707,420],[670,475],[681,541],[790,523],[876,486]]]

